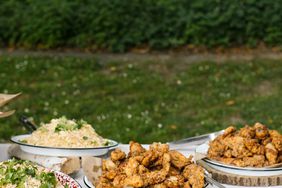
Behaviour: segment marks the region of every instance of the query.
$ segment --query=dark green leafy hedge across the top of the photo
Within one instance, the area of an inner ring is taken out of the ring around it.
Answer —
[[[282,44],[281,0],[0,1],[2,47],[114,52]]]

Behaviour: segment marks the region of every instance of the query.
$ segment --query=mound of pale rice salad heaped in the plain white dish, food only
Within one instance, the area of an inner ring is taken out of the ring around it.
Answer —
[[[66,117],[52,119],[41,125],[22,142],[57,148],[92,148],[109,145],[109,140],[98,135],[84,120],[69,120]]]

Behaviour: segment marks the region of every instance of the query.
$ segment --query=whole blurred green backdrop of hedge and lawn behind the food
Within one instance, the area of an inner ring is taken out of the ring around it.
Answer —
[[[23,93],[1,109],[17,112],[0,119],[0,142],[26,132],[22,114],[37,124],[83,118],[123,143],[257,121],[281,131],[281,9],[281,0],[0,1],[0,93]],[[253,48],[276,55],[240,58]],[[207,56],[230,49],[238,58]]]

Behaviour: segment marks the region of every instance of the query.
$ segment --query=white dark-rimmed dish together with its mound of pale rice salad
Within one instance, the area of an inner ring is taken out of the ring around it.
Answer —
[[[25,152],[47,156],[100,156],[118,145],[98,135],[87,122],[65,117],[52,119],[32,134],[14,136],[11,141]]]

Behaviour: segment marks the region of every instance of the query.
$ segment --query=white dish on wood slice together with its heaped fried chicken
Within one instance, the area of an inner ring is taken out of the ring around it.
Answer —
[[[214,140],[196,148],[213,168],[246,176],[282,174],[282,135],[261,123],[239,130],[230,126]]]

